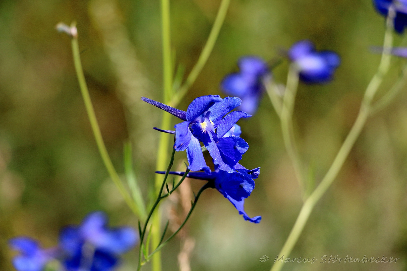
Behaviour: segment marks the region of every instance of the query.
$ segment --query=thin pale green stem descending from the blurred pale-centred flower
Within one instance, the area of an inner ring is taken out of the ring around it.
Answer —
[[[288,156],[290,157],[291,162],[294,166],[295,176],[297,177],[301,192],[304,193],[302,163],[300,160],[300,156],[298,155],[298,149],[297,145],[295,144],[293,131],[293,110],[295,95],[297,94],[298,80],[298,69],[295,64],[291,64],[287,75],[287,85],[284,93],[284,100],[282,103],[280,118],[284,145],[287,150]]]

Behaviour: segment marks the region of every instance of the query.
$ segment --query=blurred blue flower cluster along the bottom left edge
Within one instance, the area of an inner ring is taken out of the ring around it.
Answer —
[[[13,265],[17,271],[42,271],[46,264],[58,260],[66,271],[112,271],[120,254],[129,251],[138,242],[131,227],[109,229],[103,212],[92,212],[79,226],[68,226],[61,231],[56,247],[43,249],[29,237],[9,240],[12,249],[20,252]]]

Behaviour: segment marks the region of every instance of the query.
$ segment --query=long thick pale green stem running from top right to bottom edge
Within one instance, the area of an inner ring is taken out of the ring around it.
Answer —
[[[376,74],[374,74],[372,80],[370,81],[368,87],[366,88],[357,119],[354,122],[354,125],[352,126],[352,129],[350,130],[344,143],[342,144],[341,149],[339,149],[339,152],[335,157],[335,160],[333,161],[332,165],[330,166],[328,172],[326,173],[324,179],[322,179],[317,188],[315,188],[314,192],[312,192],[312,194],[304,202],[304,205],[302,205],[300,214],[298,215],[297,220],[295,221],[294,226],[291,229],[291,232],[286,242],[284,243],[284,246],[282,247],[280,254],[278,255],[280,257],[282,255],[284,255],[284,257],[288,257],[291,254],[291,251],[295,243],[297,243],[297,240],[300,237],[300,234],[304,229],[305,223],[308,221],[315,204],[319,201],[319,199],[321,199],[326,190],[329,188],[329,186],[337,177],[339,170],[343,166],[346,157],[348,157],[349,152],[352,149],[352,146],[359,137],[366,123],[366,120],[370,114],[371,103],[374,94],[376,94],[379,86],[383,81],[383,77],[389,70],[389,64],[391,59],[390,52],[393,44],[392,36],[393,19],[394,11],[389,10],[389,15],[387,17],[387,28],[383,43],[384,47],[383,54],[381,57],[379,68],[377,69]],[[280,271],[283,265],[284,262],[277,261],[274,263],[273,267],[271,268],[271,271]]]

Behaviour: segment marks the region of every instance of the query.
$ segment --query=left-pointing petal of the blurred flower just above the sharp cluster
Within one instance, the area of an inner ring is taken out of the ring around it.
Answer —
[[[252,91],[256,78],[247,80],[239,73],[226,76],[221,82],[221,89],[228,95],[243,97]]]

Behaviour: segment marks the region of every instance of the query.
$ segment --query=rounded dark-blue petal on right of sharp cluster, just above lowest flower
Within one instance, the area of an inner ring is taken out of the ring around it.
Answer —
[[[223,137],[217,143],[223,162],[234,168],[242,155],[249,149],[249,144],[236,136]]]

